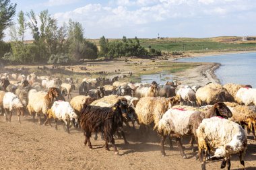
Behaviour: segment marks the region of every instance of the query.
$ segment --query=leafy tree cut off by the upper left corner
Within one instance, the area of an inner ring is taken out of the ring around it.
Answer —
[[[16,12],[16,6],[10,3],[10,0],[0,0],[0,41],[3,40],[4,30],[11,26],[13,16]]]

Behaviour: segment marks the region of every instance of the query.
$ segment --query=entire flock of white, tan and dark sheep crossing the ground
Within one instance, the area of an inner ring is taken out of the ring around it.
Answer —
[[[206,169],[206,160],[216,159],[222,160],[221,168],[230,169],[231,155],[238,155],[241,169],[245,169],[244,157],[250,149],[247,140],[251,140],[247,135],[253,134],[256,140],[256,89],[251,85],[123,83],[118,77],[86,77],[75,84],[72,77],[63,80],[34,73],[5,73],[0,77],[0,89],[1,116],[7,122],[17,114],[20,124],[20,116],[26,115],[34,124],[37,118],[40,125],[43,116],[44,126],[51,126],[54,120],[57,129],[59,120],[69,135],[74,128],[84,135],[84,145],[90,149],[92,133],[102,134],[106,150],[110,150],[110,142],[116,155],[116,135],[129,144],[127,131],[131,136],[137,130],[141,140],[154,131],[161,138],[162,156],[166,156],[164,142],[169,138],[170,148],[175,139],[181,156],[187,159],[183,137],[190,136],[191,149],[201,162],[201,169]],[[79,95],[74,96],[74,91]]]

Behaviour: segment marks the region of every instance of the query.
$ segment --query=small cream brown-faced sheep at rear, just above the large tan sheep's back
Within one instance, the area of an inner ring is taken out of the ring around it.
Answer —
[[[156,97],[158,93],[158,87],[150,85],[150,87],[137,87],[135,91],[135,97]]]

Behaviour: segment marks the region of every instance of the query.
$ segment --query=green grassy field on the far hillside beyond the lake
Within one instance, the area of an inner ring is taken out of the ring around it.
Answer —
[[[113,41],[117,39],[110,39]],[[121,39],[120,39],[121,40]],[[98,44],[98,40],[91,40]],[[241,37],[222,36],[214,38],[141,38],[141,46],[151,46],[162,52],[184,51],[184,52],[207,52],[207,51],[232,51],[232,50],[256,50],[256,41],[241,41]]]

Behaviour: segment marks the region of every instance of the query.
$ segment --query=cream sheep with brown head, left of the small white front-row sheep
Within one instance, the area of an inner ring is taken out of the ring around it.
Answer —
[[[47,110],[49,110],[52,107],[53,100],[57,97],[59,97],[59,91],[55,87],[51,87],[48,93],[42,91],[37,92],[35,89],[30,90],[28,93],[27,108],[30,115],[33,116],[33,120],[36,113],[38,116],[38,124],[41,124],[40,113],[46,116]],[[46,118],[46,122],[47,121],[48,118]],[[44,122],[44,125],[46,124],[46,122]]]

